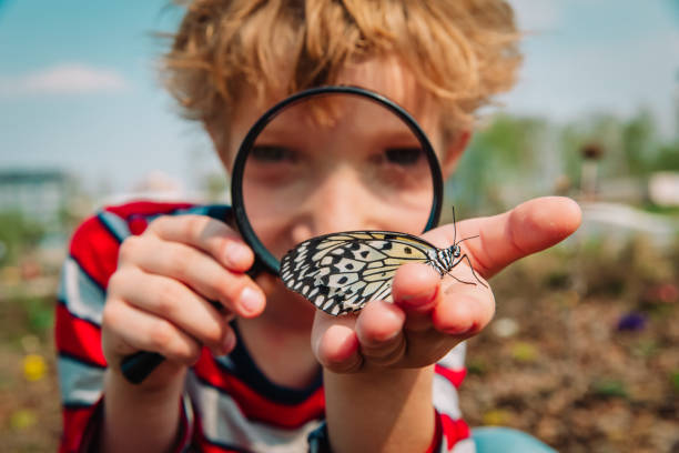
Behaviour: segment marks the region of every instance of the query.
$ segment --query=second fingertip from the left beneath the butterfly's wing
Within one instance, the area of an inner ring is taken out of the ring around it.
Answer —
[[[369,302],[356,320],[361,354],[371,364],[387,366],[399,361],[406,350],[403,326],[406,315],[385,301]]]

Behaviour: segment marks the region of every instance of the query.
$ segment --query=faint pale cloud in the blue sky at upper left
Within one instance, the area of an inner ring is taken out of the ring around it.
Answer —
[[[0,78],[0,94],[74,94],[120,91],[125,79],[110,69],[62,63],[14,78]]]

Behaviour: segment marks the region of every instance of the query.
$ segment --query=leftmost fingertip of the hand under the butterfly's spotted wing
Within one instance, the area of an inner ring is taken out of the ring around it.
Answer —
[[[353,330],[355,316],[332,316],[316,311],[313,349],[323,368],[335,373],[354,373],[363,365],[359,343]]]

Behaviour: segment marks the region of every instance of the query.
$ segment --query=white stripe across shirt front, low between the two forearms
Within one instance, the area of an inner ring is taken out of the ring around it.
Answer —
[[[205,437],[212,442],[237,445],[253,452],[301,452],[307,450],[308,433],[321,424],[321,421],[314,420],[301,427],[285,430],[250,421],[231,396],[203,384],[193,372],[189,373],[186,389],[202,416]]]

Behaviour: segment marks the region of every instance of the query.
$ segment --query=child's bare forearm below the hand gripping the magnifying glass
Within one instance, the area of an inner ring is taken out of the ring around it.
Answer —
[[[184,375],[161,389],[129,383],[107,371],[100,447],[111,452],[169,452],[178,440]]]

